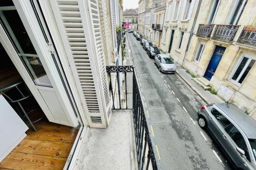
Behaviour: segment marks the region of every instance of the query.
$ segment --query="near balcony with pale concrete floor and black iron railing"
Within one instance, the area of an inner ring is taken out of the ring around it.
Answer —
[[[160,170],[134,67],[106,66],[106,72],[113,102],[111,123],[106,129],[88,128],[73,169]]]

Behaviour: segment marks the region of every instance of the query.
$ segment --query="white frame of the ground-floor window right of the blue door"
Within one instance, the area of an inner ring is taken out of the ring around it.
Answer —
[[[239,74],[237,80],[233,80],[232,77],[233,77],[234,73],[237,71],[237,69],[238,69],[238,67],[239,67],[239,65],[240,65],[240,63],[242,62],[242,60],[243,60],[244,57],[248,58],[248,61],[246,62],[244,68],[243,68],[242,71],[240,72],[240,74]],[[237,86],[241,86],[244,81],[243,81],[242,83],[239,83],[238,81],[241,79],[242,75],[244,74],[245,69],[247,68],[247,66],[249,65],[249,63],[251,62],[251,60],[255,60],[255,61],[256,61],[256,56],[255,56],[255,55],[252,55],[252,54],[249,54],[249,53],[242,53],[240,59],[239,59],[239,60],[237,61],[237,63],[236,63],[236,66],[234,66],[234,68],[233,68],[231,74],[229,75],[228,80],[229,80],[230,82],[232,82],[233,84],[237,85]],[[255,63],[254,63],[254,64],[255,64]],[[247,75],[247,76],[248,76],[248,75]],[[247,77],[247,76],[246,76],[246,77]]]

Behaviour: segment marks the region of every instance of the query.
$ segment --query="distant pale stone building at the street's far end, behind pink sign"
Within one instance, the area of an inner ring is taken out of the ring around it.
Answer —
[[[138,30],[138,8],[123,11],[123,23],[129,22],[129,29]]]

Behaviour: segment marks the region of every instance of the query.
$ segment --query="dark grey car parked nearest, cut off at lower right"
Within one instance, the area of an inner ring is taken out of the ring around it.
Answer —
[[[237,169],[256,169],[256,121],[232,104],[211,104],[198,111],[207,129]]]

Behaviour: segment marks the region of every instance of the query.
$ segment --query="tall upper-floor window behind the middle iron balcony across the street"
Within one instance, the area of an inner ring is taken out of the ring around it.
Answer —
[[[229,17],[229,25],[237,25],[243,11],[245,8],[245,5],[247,3],[247,0],[237,0],[234,3],[233,9],[231,11],[231,15]]]

